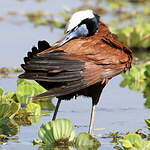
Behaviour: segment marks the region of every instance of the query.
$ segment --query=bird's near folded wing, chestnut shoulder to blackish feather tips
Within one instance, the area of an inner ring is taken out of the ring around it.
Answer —
[[[104,79],[110,79],[125,68],[124,65],[97,65],[78,55],[58,50],[35,55],[22,67],[25,73],[20,75],[20,78],[48,84],[48,91],[35,98],[58,97],[79,91]]]

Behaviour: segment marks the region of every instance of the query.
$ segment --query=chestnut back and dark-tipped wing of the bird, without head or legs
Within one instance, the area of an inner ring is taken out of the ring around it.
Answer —
[[[94,36],[74,39],[26,58],[22,65],[25,73],[20,78],[36,80],[48,89],[36,98],[59,97],[126,71],[131,60],[131,50],[101,23]]]

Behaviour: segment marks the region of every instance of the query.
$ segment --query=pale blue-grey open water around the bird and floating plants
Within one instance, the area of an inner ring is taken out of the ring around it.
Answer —
[[[63,10],[63,6],[78,7],[79,1],[55,0],[55,3],[46,1],[44,3],[35,3],[35,1],[19,2],[15,0],[5,0],[0,5],[0,16],[4,16],[8,11],[36,11],[40,9],[50,10],[51,12],[59,12]],[[58,7],[59,6],[59,7]],[[20,66],[23,63],[23,57],[26,52],[36,45],[38,40],[48,40],[54,43],[63,35],[63,30],[54,29],[50,32],[48,27],[34,28],[26,19],[18,18],[21,23],[17,26],[6,18],[0,22],[0,67],[3,66]],[[95,134],[108,134],[111,132],[128,132],[135,131],[137,128],[145,129],[144,119],[149,118],[149,109],[144,108],[143,95],[137,92],[130,91],[128,87],[120,88],[119,84],[123,80],[119,75],[112,79],[104,89],[101,100],[97,105],[95,128],[104,128],[104,130],[95,131]],[[0,79],[0,86],[5,92],[16,90],[15,79]],[[54,103],[57,99],[53,100]],[[58,118],[68,118],[74,125],[79,128],[75,129],[77,133],[87,132],[89,125],[89,117],[91,111],[91,100],[78,97],[77,100],[63,101],[61,103]],[[41,124],[51,119],[50,116],[41,117],[40,123],[35,123],[32,126],[20,127],[20,132],[15,136],[18,142],[8,142],[0,147],[2,150],[37,150],[38,147],[32,145],[32,140],[38,138],[37,132]],[[113,145],[109,142],[111,139],[99,138],[102,143],[100,149],[112,150]]]

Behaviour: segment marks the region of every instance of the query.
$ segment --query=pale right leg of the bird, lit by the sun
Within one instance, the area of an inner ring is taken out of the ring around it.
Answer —
[[[92,111],[91,111],[90,126],[89,126],[89,134],[91,135],[93,134],[93,130],[94,130],[95,110],[96,110],[96,104],[92,102]]]

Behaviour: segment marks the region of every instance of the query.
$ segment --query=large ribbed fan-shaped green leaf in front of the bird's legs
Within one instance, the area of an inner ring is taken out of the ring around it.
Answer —
[[[57,146],[73,141],[76,132],[72,131],[72,123],[67,119],[57,119],[42,125],[39,137],[46,145]]]

